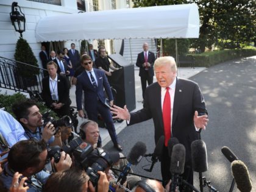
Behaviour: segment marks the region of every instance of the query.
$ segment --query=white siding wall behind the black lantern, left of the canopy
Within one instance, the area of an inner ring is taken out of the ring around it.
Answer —
[[[10,21],[12,2],[10,0],[0,1],[0,56],[7,59],[14,59],[16,41],[20,38],[20,34],[15,32]],[[18,2],[21,12],[24,13],[26,18],[26,31],[23,32],[23,38],[27,40],[32,48],[38,63],[41,63],[39,59],[41,43],[38,43],[35,39],[37,22],[44,16],[77,13],[76,0],[62,0],[62,6],[26,0],[16,0],[16,2]],[[57,31],[58,29],[56,29]],[[69,48],[70,43],[67,46]]]

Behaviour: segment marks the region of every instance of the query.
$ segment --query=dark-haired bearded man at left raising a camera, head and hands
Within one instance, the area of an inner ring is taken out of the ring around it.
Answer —
[[[34,101],[27,99],[16,103],[13,105],[12,110],[16,119],[23,125],[24,135],[27,139],[36,138],[37,140],[44,140],[50,146],[62,146],[60,135],[56,134],[54,137],[54,125],[47,123],[43,127],[42,115]]]

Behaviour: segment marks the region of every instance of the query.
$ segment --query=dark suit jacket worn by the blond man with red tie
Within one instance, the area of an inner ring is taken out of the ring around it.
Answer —
[[[186,148],[186,160],[191,159],[190,144],[197,140],[194,127],[194,112],[199,115],[207,113],[204,98],[198,85],[186,79],[177,78],[174,93],[172,114],[172,137],[176,137]],[[140,123],[153,118],[155,127],[155,143],[164,135],[163,115],[161,105],[161,87],[155,82],[146,88],[144,104],[141,110],[130,113],[130,124]]]

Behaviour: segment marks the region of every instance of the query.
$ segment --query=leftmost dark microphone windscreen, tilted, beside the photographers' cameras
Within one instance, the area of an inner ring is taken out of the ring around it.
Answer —
[[[144,154],[146,154],[146,151],[146,144],[138,141],[130,150],[130,153],[127,156],[127,161],[130,162],[132,165],[137,165],[140,162],[141,158],[144,156]]]

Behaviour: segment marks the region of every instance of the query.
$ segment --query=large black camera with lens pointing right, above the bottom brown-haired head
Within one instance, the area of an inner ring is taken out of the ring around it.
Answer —
[[[106,168],[118,162],[119,152],[107,152],[102,148],[93,149],[90,144],[82,146],[82,144],[74,150],[76,162],[85,169],[90,177],[93,186],[96,186],[99,180],[98,171],[105,171]]]

